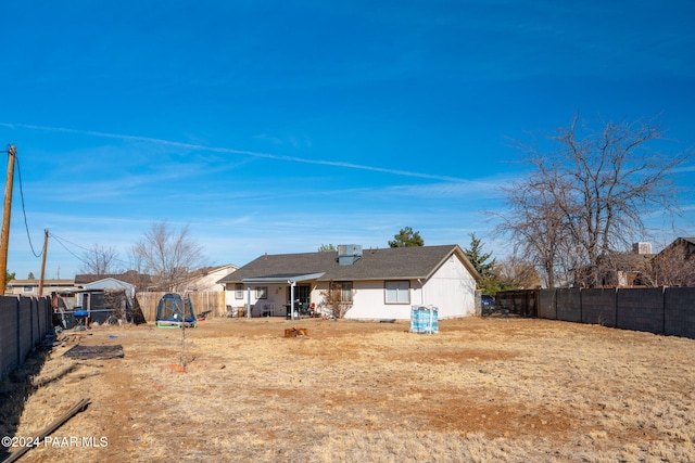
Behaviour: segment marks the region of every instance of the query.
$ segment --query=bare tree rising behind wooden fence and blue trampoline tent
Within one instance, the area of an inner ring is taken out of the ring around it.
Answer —
[[[131,249],[161,291],[174,291],[189,271],[202,267],[203,247],[190,236],[188,226],[176,231],[168,222],[155,222]]]

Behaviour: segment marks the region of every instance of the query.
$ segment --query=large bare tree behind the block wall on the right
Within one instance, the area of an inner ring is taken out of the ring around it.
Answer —
[[[598,285],[608,253],[647,234],[645,215],[678,210],[671,173],[690,153],[653,150],[662,139],[658,124],[608,121],[591,131],[574,116],[546,137],[553,149],[519,144],[532,173],[503,189],[509,211],[497,230],[540,267],[549,287],[580,267]]]

